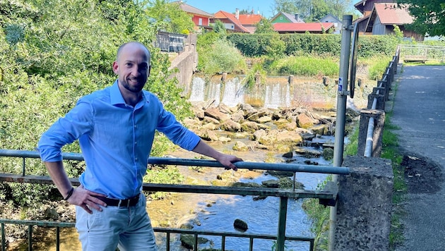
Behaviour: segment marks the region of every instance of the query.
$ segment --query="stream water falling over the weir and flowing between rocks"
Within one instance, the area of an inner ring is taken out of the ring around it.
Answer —
[[[357,93],[357,92],[356,92]],[[366,106],[367,99],[356,98],[348,103],[358,108]],[[257,86],[254,90],[247,91],[242,85],[242,77],[229,76],[225,82],[220,78],[205,80],[196,76],[191,83],[189,100],[194,102],[206,102],[214,100],[214,104],[220,103],[227,106],[236,106],[239,103],[247,103],[256,107],[276,109],[278,107],[304,106],[332,108],[336,106],[336,85],[328,82],[323,85],[321,80],[294,78],[292,84],[287,77],[268,78],[266,85]],[[350,100],[348,100],[350,101]],[[224,133],[224,132],[220,132]],[[249,145],[249,135],[236,139]],[[328,140],[334,141],[333,137]],[[235,140],[234,140],[235,141]],[[223,152],[230,152],[245,161],[284,161],[280,152],[257,150],[250,152],[232,152],[235,142],[210,142],[210,145]],[[192,159],[198,155],[184,150],[171,152],[172,157]],[[305,157],[294,157],[292,161],[303,164]],[[320,165],[329,166],[331,163],[322,158],[310,159]],[[188,183],[208,185],[216,176],[223,173],[222,169],[206,169],[203,173],[196,173],[187,167],[180,168],[184,176],[188,176]],[[239,173],[239,174],[238,174]],[[239,181],[261,183],[263,180],[276,179],[265,173],[233,172]],[[297,181],[304,184],[309,190],[316,189],[317,185],[326,179],[326,174],[297,173]],[[178,228],[183,224],[191,224],[196,230],[237,232],[233,227],[235,219],[247,222],[249,229],[246,233],[260,233],[276,235],[278,231],[279,199],[267,197],[264,200],[253,200],[251,196],[237,195],[194,195],[172,193],[166,200],[148,201],[148,213],[153,226],[168,226]],[[312,236],[310,233],[311,221],[302,209],[301,200],[289,200],[287,205],[286,234],[290,236]],[[53,235],[54,236],[54,235]],[[78,235],[74,229],[64,231],[61,235],[61,250],[81,250],[78,243]],[[209,243],[200,245],[203,247],[220,248],[220,238],[205,236]],[[165,236],[157,234],[160,250],[165,250]],[[41,242],[35,250],[55,250],[54,243]],[[181,247],[179,236],[172,236],[171,250],[187,250]],[[254,250],[271,250],[272,240],[254,240]],[[309,250],[309,244],[302,242],[286,242],[286,250]],[[26,245],[21,245],[26,247]],[[244,238],[227,238],[227,250],[248,250],[249,240]],[[21,249],[21,248],[18,248]]]

